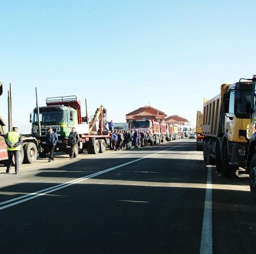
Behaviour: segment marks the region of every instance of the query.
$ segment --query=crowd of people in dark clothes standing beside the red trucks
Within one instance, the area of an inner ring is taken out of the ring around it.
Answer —
[[[132,148],[146,147],[149,141],[148,131],[131,129],[127,131],[110,131],[110,150],[120,151]]]

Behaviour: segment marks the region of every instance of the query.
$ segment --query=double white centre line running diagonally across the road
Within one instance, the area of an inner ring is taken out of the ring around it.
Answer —
[[[84,180],[87,180],[87,179],[90,179],[92,177],[95,177],[95,176],[99,176],[101,174],[105,174],[107,172],[110,172],[112,170],[115,170],[115,169],[118,169],[120,167],[123,167],[123,166],[126,166],[126,165],[129,165],[129,164],[132,164],[132,163],[135,163],[137,161],[140,161],[140,160],[143,160],[145,158],[148,158],[148,157],[151,157],[151,156],[154,156],[156,154],[160,154],[160,153],[163,153],[164,151],[168,151],[168,150],[171,150],[173,148],[176,148],[176,147],[180,147],[182,145],[184,145],[186,143],[183,143],[183,144],[180,144],[180,145],[176,145],[174,147],[170,147],[166,150],[163,150],[163,151],[159,151],[158,153],[154,153],[154,154],[150,154],[150,155],[147,155],[143,158],[139,158],[139,159],[136,159],[136,160],[133,160],[133,161],[130,161],[130,162],[127,162],[127,163],[123,163],[123,164],[120,164],[118,166],[115,166],[115,167],[111,167],[110,169],[106,169],[106,170],[102,170],[101,172],[97,172],[97,173],[94,173],[94,174],[89,174],[88,176],[84,176],[84,177],[80,177],[78,179],[74,179],[74,180],[71,180],[70,182],[66,182],[66,183],[62,183],[61,185],[56,185],[56,186],[52,186],[50,188],[47,188],[47,189],[43,189],[41,191],[38,191],[38,192],[33,192],[33,193],[29,193],[27,195],[24,195],[24,196],[20,196],[18,198],[13,198],[13,199],[10,199],[10,200],[7,200],[7,201],[4,201],[4,202],[1,202],[0,203],[0,210],[2,209],[5,209],[5,208],[8,208],[8,207],[13,207],[14,205],[18,205],[18,204],[21,204],[23,202],[26,202],[26,201],[29,201],[30,199],[33,199],[33,198],[38,198],[39,196],[43,196],[45,194],[48,194],[48,193],[51,193],[51,192],[54,192],[54,191],[58,191],[59,189],[63,189],[63,188],[66,188],[68,186],[71,186],[71,185],[74,185],[76,183],[79,183],[79,182],[82,182]],[[11,204],[8,204],[8,203],[11,203]],[[5,204],[8,204],[8,205],[5,205]],[[3,206],[2,206],[3,205]]]

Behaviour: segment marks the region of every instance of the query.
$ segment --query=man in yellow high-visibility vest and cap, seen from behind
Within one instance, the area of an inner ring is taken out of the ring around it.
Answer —
[[[5,143],[7,144],[8,164],[6,173],[10,173],[13,155],[15,158],[15,174],[18,173],[18,164],[20,160],[21,134],[18,132],[18,126],[13,125],[13,131],[8,132]]]

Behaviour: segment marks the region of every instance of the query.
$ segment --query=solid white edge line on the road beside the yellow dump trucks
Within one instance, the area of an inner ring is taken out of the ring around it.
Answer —
[[[205,190],[204,219],[202,221],[202,236],[200,254],[213,253],[213,202],[212,202],[212,168],[208,167],[207,185]]]

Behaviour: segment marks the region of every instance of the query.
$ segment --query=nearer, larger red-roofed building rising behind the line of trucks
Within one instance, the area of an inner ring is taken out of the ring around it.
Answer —
[[[151,106],[140,107],[133,112],[126,114],[126,122],[132,122],[133,120],[155,120],[160,122],[166,118],[166,114],[158,109],[154,109]]]

